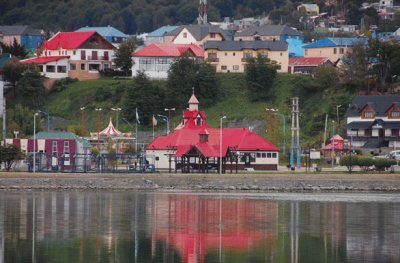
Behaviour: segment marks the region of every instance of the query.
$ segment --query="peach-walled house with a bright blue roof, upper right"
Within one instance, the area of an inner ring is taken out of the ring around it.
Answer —
[[[354,45],[367,45],[365,37],[328,37],[305,44],[304,57],[327,57],[336,63],[349,52]]]

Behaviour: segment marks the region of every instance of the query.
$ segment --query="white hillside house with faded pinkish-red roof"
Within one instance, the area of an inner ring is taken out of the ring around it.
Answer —
[[[171,64],[185,53],[204,59],[204,50],[194,44],[153,43],[132,54],[132,76],[144,71],[152,79],[166,79]]]

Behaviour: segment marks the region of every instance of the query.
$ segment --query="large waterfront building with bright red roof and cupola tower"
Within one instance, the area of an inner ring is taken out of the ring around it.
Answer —
[[[158,157],[158,168],[208,172],[219,168],[222,156],[223,170],[277,170],[279,149],[275,145],[248,128],[223,128],[221,133],[220,128],[208,126],[198,104],[193,94],[181,125],[147,145],[146,154]]]

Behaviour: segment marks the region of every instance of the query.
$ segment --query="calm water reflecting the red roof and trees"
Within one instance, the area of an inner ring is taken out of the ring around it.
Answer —
[[[3,262],[400,262],[400,195],[0,192]]]

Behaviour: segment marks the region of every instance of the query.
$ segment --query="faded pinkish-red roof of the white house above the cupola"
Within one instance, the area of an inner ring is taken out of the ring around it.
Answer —
[[[204,57],[204,51],[194,44],[153,43],[134,52],[132,57],[180,57],[186,52]]]

